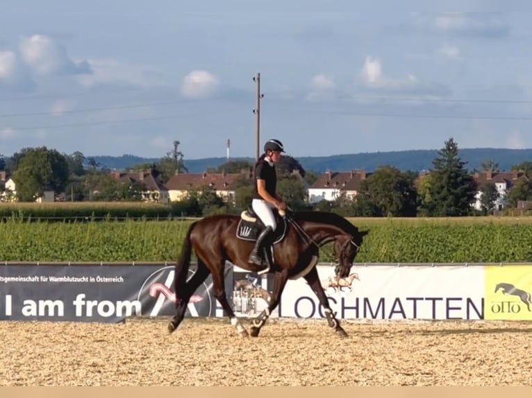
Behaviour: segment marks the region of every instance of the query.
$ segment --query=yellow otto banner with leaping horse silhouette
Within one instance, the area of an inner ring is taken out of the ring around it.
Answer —
[[[532,320],[532,266],[487,266],[484,319]]]

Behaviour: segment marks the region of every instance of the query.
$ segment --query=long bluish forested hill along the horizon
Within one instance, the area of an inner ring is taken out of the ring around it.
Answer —
[[[290,154],[289,154],[290,155]],[[354,153],[346,155],[331,155],[319,157],[296,157],[305,170],[324,173],[331,171],[360,170],[374,171],[378,166],[395,166],[403,171],[422,171],[432,167],[433,159],[438,156],[438,150],[399,150],[393,152]],[[532,149],[506,148],[464,148],[460,149],[460,157],[467,162],[469,170],[481,169],[481,164],[488,160],[499,163],[501,171],[521,162],[532,162]],[[101,166],[122,170],[140,163],[158,162],[158,158],[145,158],[134,155],[122,156],[94,156]],[[249,160],[254,158],[233,158],[232,160]],[[204,159],[186,159],[185,166],[190,173],[202,173],[209,167],[224,164],[224,157],[208,157]]]

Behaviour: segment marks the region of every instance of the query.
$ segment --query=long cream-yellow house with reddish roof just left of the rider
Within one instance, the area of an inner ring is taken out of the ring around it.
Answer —
[[[250,178],[251,171],[247,169],[240,173],[176,173],[169,178],[165,187],[171,202],[185,198],[189,191],[201,191],[204,187],[214,189],[224,200],[234,200],[238,181]]]

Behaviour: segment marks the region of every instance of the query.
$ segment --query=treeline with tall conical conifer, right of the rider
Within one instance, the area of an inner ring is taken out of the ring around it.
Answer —
[[[482,164],[483,171],[498,172],[492,160]],[[497,211],[497,201],[505,202],[506,211],[517,207],[519,200],[532,199],[532,163],[524,162],[512,168],[522,177],[515,187],[501,194],[493,182],[479,186],[474,172],[468,171],[459,155],[458,144],[450,138],[438,150],[433,167],[427,173],[400,171],[393,166],[381,166],[360,182],[354,200],[340,195],[336,200],[323,200],[315,209],[335,211],[343,216],[372,217],[453,217],[488,215]],[[480,192],[480,209],[474,209]]]

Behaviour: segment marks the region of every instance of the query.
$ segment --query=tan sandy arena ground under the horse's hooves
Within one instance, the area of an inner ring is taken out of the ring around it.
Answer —
[[[526,322],[166,322],[0,322],[0,386],[532,385]]]

